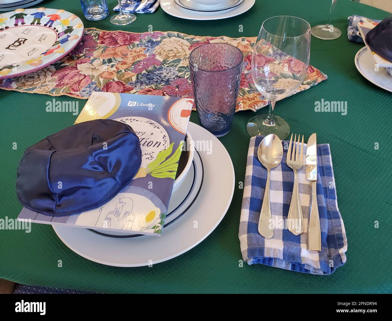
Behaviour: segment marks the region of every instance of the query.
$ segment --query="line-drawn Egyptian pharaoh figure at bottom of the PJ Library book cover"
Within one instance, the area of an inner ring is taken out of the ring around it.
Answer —
[[[116,208],[107,213],[102,227],[111,229],[132,230],[135,214],[132,213],[133,201],[129,197],[119,198]]]

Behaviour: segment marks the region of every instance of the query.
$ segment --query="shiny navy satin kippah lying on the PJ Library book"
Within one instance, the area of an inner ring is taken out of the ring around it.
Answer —
[[[16,195],[38,213],[80,213],[113,198],[141,161],[139,138],[129,125],[109,119],[79,123],[25,150]]]

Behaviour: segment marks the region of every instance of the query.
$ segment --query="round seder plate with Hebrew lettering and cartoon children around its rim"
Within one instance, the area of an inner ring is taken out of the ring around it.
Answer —
[[[60,60],[82,35],[82,20],[64,9],[19,8],[0,14],[0,79]]]

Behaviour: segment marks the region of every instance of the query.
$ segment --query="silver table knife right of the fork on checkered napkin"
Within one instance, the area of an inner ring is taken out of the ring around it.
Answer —
[[[317,138],[309,137],[306,147],[305,175],[310,185],[310,201],[308,216],[308,252],[321,251],[320,218],[317,206]]]

